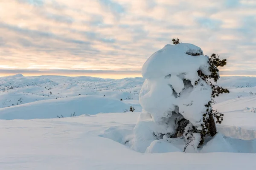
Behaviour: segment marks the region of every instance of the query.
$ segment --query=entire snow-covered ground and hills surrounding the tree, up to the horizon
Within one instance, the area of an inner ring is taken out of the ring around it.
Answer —
[[[221,78],[218,84],[229,87],[230,94],[216,99],[214,108],[224,113],[218,130],[232,138],[219,135],[202,153],[160,147],[139,153],[125,145],[142,111],[143,81],[0,77],[0,170],[255,169],[255,77]],[[135,111],[124,113],[130,106]],[[76,117],[69,117],[74,112]]]

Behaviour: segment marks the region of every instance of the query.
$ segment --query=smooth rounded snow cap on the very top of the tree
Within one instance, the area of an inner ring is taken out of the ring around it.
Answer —
[[[169,74],[177,76],[180,73],[186,73],[187,75],[191,70],[198,71],[199,68],[209,73],[207,61],[208,57],[204,56],[203,51],[198,46],[186,43],[167,44],[151,55],[144,63],[142,76],[149,79]],[[187,75],[186,77],[189,76],[193,75]]]

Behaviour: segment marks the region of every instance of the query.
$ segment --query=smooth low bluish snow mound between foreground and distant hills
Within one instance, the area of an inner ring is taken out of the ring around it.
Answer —
[[[136,111],[140,111],[139,105],[133,105]],[[82,114],[123,112],[129,109],[130,104],[117,99],[103,96],[76,96],[61,99],[48,99],[23,105],[0,108],[0,119],[47,119],[63,115],[76,116]]]

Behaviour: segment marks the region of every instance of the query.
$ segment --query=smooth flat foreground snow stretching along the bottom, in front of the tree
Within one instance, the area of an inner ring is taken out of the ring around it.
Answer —
[[[256,154],[138,153],[98,136],[104,130],[132,129],[137,116],[138,113],[109,113],[61,119],[0,120],[0,169],[255,169]],[[116,137],[120,137],[118,133]]]

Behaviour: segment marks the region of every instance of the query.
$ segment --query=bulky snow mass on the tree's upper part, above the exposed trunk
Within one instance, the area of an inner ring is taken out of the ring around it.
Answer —
[[[148,58],[142,68],[146,80],[139,97],[141,106],[155,122],[172,116],[178,109],[193,125],[201,124],[204,105],[211,100],[211,87],[197,71],[209,75],[207,61],[201,48],[185,43],[166,45]]]

